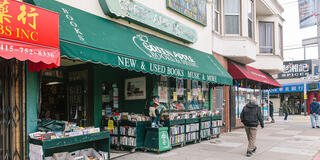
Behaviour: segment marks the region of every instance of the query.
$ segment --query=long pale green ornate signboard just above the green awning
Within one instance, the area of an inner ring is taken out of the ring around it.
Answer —
[[[99,0],[103,12],[110,17],[134,21],[188,43],[197,41],[194,29],[132,0]]]

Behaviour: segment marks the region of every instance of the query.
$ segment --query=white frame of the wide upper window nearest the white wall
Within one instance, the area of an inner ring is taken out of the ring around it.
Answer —
[[[242,0],[239,0],[239,13],[238,14],[235,14],[235,13],[226,13],[226,1],[227,0],[223,0],[223,24],[224,24],[224,27],[223,27],[223,32],[225,35],[231,35],[231,36],[241,36],[242,35],[242,18],[241,18],[241,13],[242,13]],[[238,26],[238,33],[227,33],[226,32],[226,16],[238,16],[238,20],[239,20],[239,26]]]

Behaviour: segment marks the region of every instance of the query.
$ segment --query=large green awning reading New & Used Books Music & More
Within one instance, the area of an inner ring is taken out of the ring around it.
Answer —
[[[232,85],[232,77],[211,54],[54,0],[33,1],[39,7],[60,13],[62,56],[145,73]]]

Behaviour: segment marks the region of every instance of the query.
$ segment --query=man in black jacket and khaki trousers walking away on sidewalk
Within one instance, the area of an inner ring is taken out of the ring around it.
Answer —
[[[250,98],[250,102],[243,108],[240,118],[241,122],[244,124],[248,138],[247,157],[251,157],[257,150],[255,142],[259,122],[261,128],[264,127],[261,109],[258,107],[257,99],[255,97],[252,96]]]

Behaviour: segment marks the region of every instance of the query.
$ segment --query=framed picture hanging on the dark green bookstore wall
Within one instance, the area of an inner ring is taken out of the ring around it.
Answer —
[[[125,100],[146,99],[146,77],[125,80]]]

